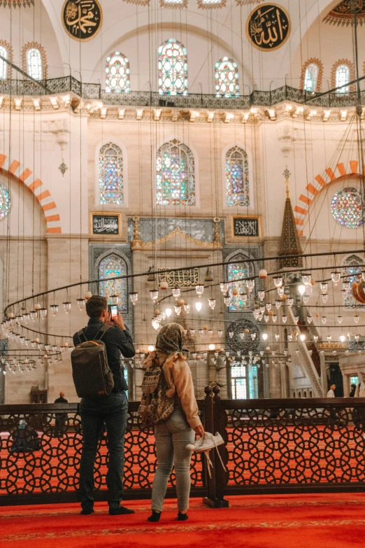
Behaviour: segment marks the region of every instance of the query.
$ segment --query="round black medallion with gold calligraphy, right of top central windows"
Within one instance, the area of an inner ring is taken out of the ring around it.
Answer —
[[[280,48],[290,33],[287,12],[275,3],[262,3],[250,13],[246,24],[248,39],[258,50]]]

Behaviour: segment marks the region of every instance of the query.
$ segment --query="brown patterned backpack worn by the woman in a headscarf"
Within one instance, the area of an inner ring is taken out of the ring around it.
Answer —
[[[159,424],[169,419],[175,400],[166,396],[167,389],[162,367],[157,360],[153,360],[142,381],[142,399],[138,415],[143,423]]]

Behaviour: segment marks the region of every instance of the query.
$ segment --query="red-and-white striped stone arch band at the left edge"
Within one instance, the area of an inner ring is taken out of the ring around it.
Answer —
[[[61,219],[57,211],[56,203],[48,188],[39,178],[34,178],[29,167],[24,167],[18,160],[12,160],[5,154],[0,154],[0,173],[10,175],[19,183],[24,184],[39,202],[45,216],[47,226],[46,234],[61,234]]]

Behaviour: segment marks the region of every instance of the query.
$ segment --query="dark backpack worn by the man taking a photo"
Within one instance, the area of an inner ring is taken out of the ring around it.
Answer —
[[[100,398],[109,395],[114,388],[113,374],[108,365],[103,336],[108,325],[88,341],[84,330],[78,332],[80,344],[71,352],[72,377],[79,398]]]

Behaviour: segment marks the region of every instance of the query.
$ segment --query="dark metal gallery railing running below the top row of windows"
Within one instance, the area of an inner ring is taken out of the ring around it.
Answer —
[[[282,101],[308,104],[308,108],[343,108],[355,106],[356,92],[326,95],[309,93],[295,87],[284,85],[276,90],[255,90],[248,95],[238,97],[216,97],[214,94],[189,93],[188,95],[162,95],[158,92],[107,93],[100,84],[81,83],[73,76],[42,80],[48,92],[29,80],[0,80],[0,95],[16,97],[67,94],[73,92],[85,100],[103,101],[106,105],[115,106],[171,106],[176,108],[213,108],[241,110],[251,106],[275,106]],[[365,91],[361,92],[361,102],[365,104]]]

